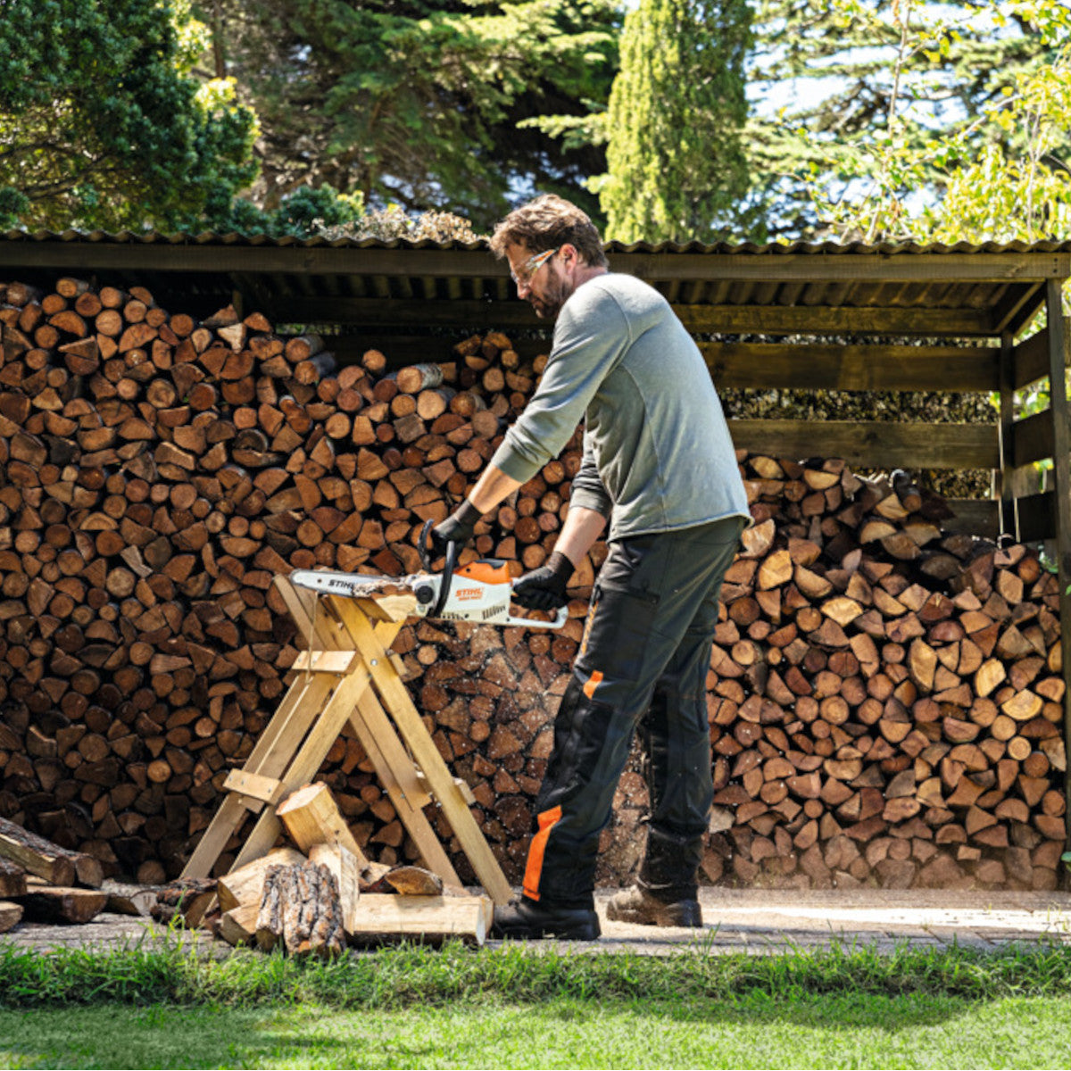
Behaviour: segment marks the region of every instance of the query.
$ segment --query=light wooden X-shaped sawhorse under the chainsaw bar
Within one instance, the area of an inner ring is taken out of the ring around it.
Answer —
[[[443,761],[402,682],[402,660],[390,651],[404,619],[371,599],[317,595],[285,577],[275,584],[307,650],[245,766],[224,782],[227,796],[182,876],[208,877],[251,813],[258,817],[231,869],[267,855],[282,830],[276,804],[312,781],[348,723],[424,865],[448,885],[462,884],[422,810],[435,800],[484,891],[496,904],[507,903],[510,886],[469,811],[468,786]]]

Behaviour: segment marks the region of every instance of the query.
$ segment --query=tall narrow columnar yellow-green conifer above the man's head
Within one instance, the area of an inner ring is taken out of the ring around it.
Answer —
[[[639,0],[625,17],[599,186],[607,237],[739,232],[750,24],[746,0]]]

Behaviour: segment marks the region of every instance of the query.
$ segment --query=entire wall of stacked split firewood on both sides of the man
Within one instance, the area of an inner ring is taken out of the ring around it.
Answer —
[[[198,323],[75,280],[0,285],[0,815],[161,884],[287,687],[299,642],[273,577],[417,571],[421,526],[461,500],[544,359],[492,333],[451,364],[389,373],[373,350],[330,375],[319,338],[258,314]],[[900,480],[740,461],[756,526],[709,679],[708,876],[1047,885],[1065,761],[1053,577],[1022,547],[946,536],[940,503]],[[539,565],[578,465],[574,439],[466,556]],[[561,632],[422,621],[395,645],[512,880],[604,555],[580,563]],[[321,778],[362,850],[418,860],[356,740]],[[633,768],[603,881],[638,856],[643,797]]]

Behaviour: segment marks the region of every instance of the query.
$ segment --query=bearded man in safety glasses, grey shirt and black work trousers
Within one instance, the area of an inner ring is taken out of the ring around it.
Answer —
[[[584,639],[555,720],[524,895],[497,936],[599,936],[599,834],[642,729],[650,821],[634,888],[609,918],[702,925],[697,870],[713,798],[706,678],[722,577],[749,523],[710,375],[661,295],[608,271],[591,221],[559,197],[510,213],[492,251],[521,298],[555,319],[543,379],[468,499],[432,531],[466,543],[480,517],[555,457],[585,421],[569,513],[525,606],[563,606],[573,570],[610,518]]]

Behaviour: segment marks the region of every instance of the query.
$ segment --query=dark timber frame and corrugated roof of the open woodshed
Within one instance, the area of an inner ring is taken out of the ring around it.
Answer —
[[[962,530],[1055,548],[1071,685],[1069,333],[1061,311],[1071,242],[610,244],[607,254],[612,270],[646,280],[669,300],[720,388],[997,395],[992,424],[729,423],[737,447],[773,456],[991,470],[991,499],[950,504]],[[62,275],[144,286],[174,312],[207,316],[233,303],[273,323],[316,325],[338,332],[331,348],[342,363],[368,348],[382,349],[392,366],[447,361],[454,343],[488,330],[504,331],[519,349],[546,347],[547,325],[516,299],[508,267],[483,243],[0,233],[0,280],[50,287]],[[1019,341],[1039,313],[1046,327]],[[534,334],[541,330],[542,338]],[[763,341],[748,341],[754,336]],[[1045,379],[1050,407],[1016,420],[1014,393]],[[1039,492],[1034,463],[1046,458],[1053,489]],[[1071,687],[1064,703],[1071,753]],[[1071,845],[1067,772],[1065,791]]]

